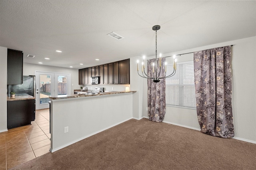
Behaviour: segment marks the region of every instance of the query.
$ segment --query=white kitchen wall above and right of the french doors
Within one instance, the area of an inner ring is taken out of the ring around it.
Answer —
[[[80,89],[80,86],[78,85],[78,69],[23,63],[23,75],[35,75],[35,71],[70,73],[71,74],[71,94],[74,94],[73,93],[74,89]]]

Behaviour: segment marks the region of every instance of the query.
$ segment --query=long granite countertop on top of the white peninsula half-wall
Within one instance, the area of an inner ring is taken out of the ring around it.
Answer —
[[[104,96],[104,95],[115,95],[115,94],[135,93],[135,92],[136,91],[111,91],[111,92],[103,92],[103,93],[95,93],[95,94],[58,95],[56,97],[49,96],[49,98],[51,100],[73,99],[73,98],[92,97],[92,96]]]

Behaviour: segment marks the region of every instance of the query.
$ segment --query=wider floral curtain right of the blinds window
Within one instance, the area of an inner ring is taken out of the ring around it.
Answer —
[[[194,52],[196,109],[201,132],[234,137],[231,47]]]

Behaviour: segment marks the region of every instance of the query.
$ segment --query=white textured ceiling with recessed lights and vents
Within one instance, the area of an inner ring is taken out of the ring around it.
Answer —
[[[23,51],[25,63],[84,68],[152,56],[154,25],[162,53],[252,37],[256,1],[0,0],[0,46]]]

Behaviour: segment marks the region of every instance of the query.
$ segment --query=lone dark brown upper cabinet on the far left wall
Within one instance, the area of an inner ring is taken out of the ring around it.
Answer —
[[[20,85],[23,82],[23,53],[22,51],[7,50],[7,84]]]

